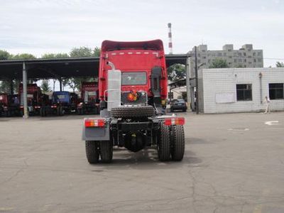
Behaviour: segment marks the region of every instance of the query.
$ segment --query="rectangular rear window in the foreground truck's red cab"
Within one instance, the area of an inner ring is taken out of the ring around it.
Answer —
[[[147,84],[146,72],[122,72],[122,85],[145,85]]]

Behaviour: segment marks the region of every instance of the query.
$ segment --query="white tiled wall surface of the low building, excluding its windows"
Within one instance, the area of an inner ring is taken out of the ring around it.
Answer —
[[[204,113],[261,111],[266,107],[261,101],[269,96],[268,84],[284,83],[284,68],[204,69],[200,74],[200,109]],[[252,101],[236,101],[236,84],[252,84]],[[216,103],[218,93],[234,93],[234,102]],[[271,110],[284,110],[284,99],[271,100]]]

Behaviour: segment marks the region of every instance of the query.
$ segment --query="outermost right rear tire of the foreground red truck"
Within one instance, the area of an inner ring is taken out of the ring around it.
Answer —
[[[173,160],[180,161],[185,154],[185,131],[183,126],[173,126],[171,155]]]

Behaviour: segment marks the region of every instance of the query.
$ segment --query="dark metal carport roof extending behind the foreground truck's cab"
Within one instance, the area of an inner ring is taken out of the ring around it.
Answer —
[[[166,55],[167,67],[175,63],[186,64],[189,55]],[[0,80],[23,78],[23,62],[28,78],[95,77],[99,70],[99,57],[52,58],[34,60],[0,60]]]

